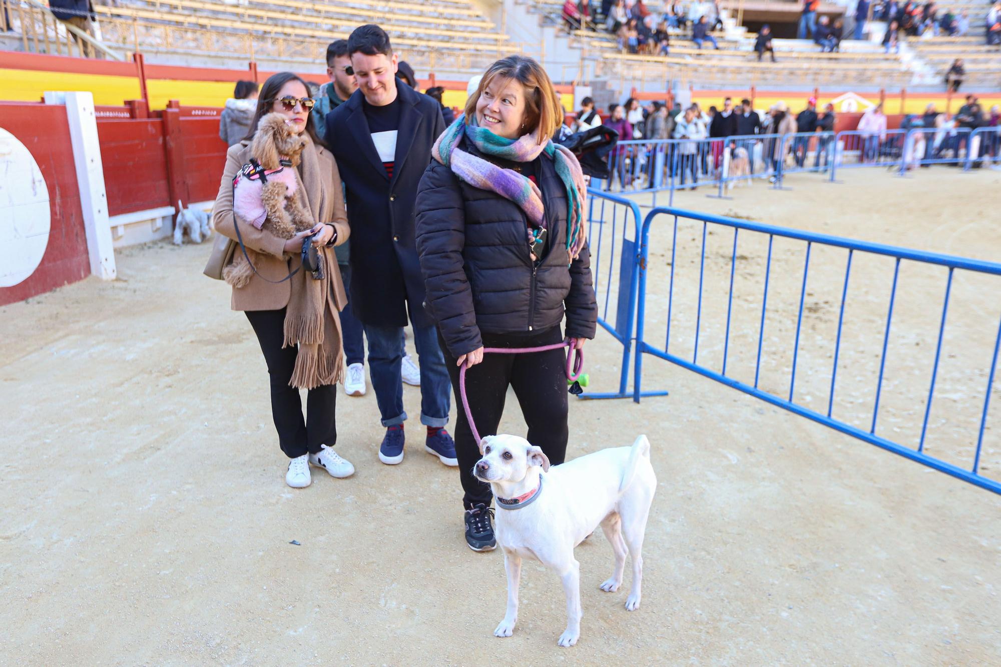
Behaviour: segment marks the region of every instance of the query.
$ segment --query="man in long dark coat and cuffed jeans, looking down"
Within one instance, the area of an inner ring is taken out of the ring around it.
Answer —
[[[424,282],[413,238],[417,184],[431,146],[444,131],[441,106],[397,85],[398,58],[376,25],[354,30],[348,56],[358,89],[326,116],[326,142],[344,181],[351,225],[348,298],[364,324],[368,368],[385,437],[379,460],[403,460],[403,386],[399,342],[407,314],[420,364],[420,422],[425,445],[455,466],[455,447],[444,430],[450,384],[434,321],[424,310]]]

